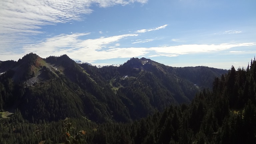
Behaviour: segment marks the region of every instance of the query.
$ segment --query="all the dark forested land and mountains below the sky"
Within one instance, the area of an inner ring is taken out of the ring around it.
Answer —
[[[1,144],[256,142],[255,58],[225,71],[30,53],[0,61],[0,73]]]

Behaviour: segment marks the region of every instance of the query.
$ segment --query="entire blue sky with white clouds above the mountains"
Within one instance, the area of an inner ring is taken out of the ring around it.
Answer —
[[[169,66],[246,67],[255,0],[1,0],[0,60],[33,52],[93,65],[131,57]]]

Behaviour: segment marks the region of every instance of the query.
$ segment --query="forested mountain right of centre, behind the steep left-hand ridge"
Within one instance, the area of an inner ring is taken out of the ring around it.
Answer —
[[[169,67],[146,58],[131,58],[120,67],[80,66],[97,83],[109,83],[136,117],[146,116],[155,108],[162,111],[171,103],[190,103],[200,88],[212,87],[214,78],[227,72],[209,67]],[[132,106],[134,103],[138,107]]]

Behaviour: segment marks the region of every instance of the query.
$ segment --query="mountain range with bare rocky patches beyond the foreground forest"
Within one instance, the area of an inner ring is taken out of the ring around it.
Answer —
[[[67,55],[41,58],[30,53],[0,62],[0,109],[19,109],[29,121],[86,117],[131,121],[170,104],[190,103],[227,70],[170,67],[146,58],[97,68]]]

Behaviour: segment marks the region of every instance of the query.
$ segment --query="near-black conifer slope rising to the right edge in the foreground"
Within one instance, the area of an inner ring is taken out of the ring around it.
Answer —
[[[227,74],[215,78],[212,90],[202,90],[189,105],[172,105],[130,124],[98,129],[91,143],[254,144],[256,60],[247,68],[232,66]],[[116,131],[121,133],[115,135]]]

